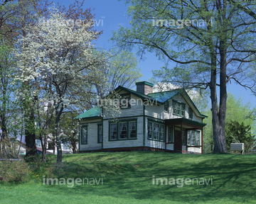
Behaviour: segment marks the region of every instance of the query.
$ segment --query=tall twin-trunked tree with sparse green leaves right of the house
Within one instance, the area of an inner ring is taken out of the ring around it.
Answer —
[[[210,89],[213,151],[227,152],[227,83],[233,80],[249,89],[254,85],[247,81],[246,72],[255,61],[256,21],[242,8],[254,11],[256,2],[126,2],[132,28],[119,28],[112,40],[128,49],[137,45],[141,55],[146,51],[156,53],[166,62],[166,67],[155,72],[163,81],[184,88]]]

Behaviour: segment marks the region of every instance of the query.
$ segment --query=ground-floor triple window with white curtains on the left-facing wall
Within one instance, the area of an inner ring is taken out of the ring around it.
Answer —
[[[119,121],[110,123],[110,140],[128,140],[137,138],[137,121]]]

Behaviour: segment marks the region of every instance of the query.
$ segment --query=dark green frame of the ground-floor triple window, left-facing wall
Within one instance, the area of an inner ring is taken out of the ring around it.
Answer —
[[[130,138],[129,133],[129,123],[135,122],[136,123],[136,137]],[[119,123],[127,123],[127,138],[120,139],[119,138]],[[111,124],[117,124],[117,139],[111,140]],[[109,140],[108,141],[120,141],[120,140],[137,140],[138,136],[138,125],[137,125],[137,119],[133,120],[118,120],[117,122],[109,121]]]

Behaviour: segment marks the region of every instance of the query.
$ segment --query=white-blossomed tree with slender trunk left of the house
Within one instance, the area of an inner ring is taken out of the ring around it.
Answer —
[[[57,162],[62,161],[60,115],[68,108],[76,108],[92,101],[95,93],[87,91],[95,84],[104,84],[105,54],[98,52],[92,40],[99,33],[92,30],[92,22],[78,21],[72,27],[68,19],[56,9],[50,9],[48,19],[26,28],[15,52],[19,69],[16,79],[32,84],[33,93],[21,95],[52,103],[55,115]]]

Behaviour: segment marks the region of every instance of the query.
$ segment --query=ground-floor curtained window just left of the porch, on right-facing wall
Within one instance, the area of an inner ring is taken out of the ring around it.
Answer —
[[[161,123],[148,122],[148,139],[165,141],[165,126]]]

